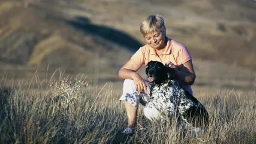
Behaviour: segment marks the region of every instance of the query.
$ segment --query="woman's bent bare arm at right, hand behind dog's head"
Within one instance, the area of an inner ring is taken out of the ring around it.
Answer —
[[[169,63],[169,64],[168,64]],[[175,79],[179,81],[181,85],[193,85],[195,82],[195,71],[193,69],[192,61],[189,60],[179,66],[179,69],[171,62],[167,62],[167,65],[171,68],[175,68]]]

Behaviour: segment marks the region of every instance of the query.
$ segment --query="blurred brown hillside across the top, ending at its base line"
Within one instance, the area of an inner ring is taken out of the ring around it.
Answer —
[[[254,1],[240,0],[3,0],[0,61],[90,67],[88,61],[100,58],[103,67],[120,67],[144,43],[141,20],[159,13],[167,35],[193,58],[256,69],[255,8]]]

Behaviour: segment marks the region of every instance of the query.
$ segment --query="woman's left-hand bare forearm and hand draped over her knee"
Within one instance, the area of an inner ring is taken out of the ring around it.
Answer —
[[[137,92],[146,92],[146,84],[142,77],[137,73],[140,69],[138,65],[135,65],[130,59],[126,64],[119,70],[118,75],[120,79],[131,79],[134,82]]]

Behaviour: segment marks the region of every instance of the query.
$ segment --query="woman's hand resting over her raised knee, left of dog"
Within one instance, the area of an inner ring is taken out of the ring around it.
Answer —
[[[146,84],[139,74],[137,73],[132,74],[132,80],[134,82],[135,89],[137,92],[139,93],[147,92]]]

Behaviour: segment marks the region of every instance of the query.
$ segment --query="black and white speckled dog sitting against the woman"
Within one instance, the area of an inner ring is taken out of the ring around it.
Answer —
[[[167,113],[168,117],[177,116],[185,125],[185,129],[207,125],[207,111],[195,97],[179,85],[177,80],[173,79],[173,68],[165,67],[158,61],[150,61],[147,66],[151,106],[159,113]]]

